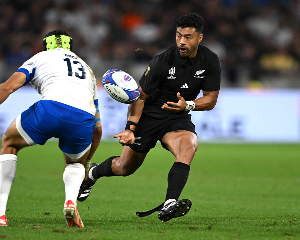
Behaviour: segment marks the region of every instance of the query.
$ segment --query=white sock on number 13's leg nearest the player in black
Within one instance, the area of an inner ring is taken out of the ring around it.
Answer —
[[[71,200],[77,205],[79,188],[85,176],[84,166],[80,163],[70,163],[63,172],[65,183],[66,201]]]

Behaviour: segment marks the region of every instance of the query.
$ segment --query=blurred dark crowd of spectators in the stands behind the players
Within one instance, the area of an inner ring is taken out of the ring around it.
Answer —
[[[300,88],[300,0],[0,0],[0,82],[63,29],[98,79],[122,69],[139,80],[175,44],[175,21],[204,18],[202,44],[222,63],[223,86]]]

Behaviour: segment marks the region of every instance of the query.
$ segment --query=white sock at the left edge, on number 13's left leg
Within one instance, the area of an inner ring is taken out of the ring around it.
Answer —
[[[6,204],[17,170],[17,155],[0,155],[0,216],[5,215]]]

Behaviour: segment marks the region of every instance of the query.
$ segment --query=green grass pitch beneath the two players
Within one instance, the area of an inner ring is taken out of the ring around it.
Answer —
[[[122,146],[101,142],[92,161],[118,155]],[[8,199],[4,239],[300,239],[300,145],[200,144],[181,198],[184,217],[160,222],[174,157],[158,143],[141,168],[126,178],[101,178],[78,211],[84,228],[67,228],[63,154],[57,142],[18,154]]]

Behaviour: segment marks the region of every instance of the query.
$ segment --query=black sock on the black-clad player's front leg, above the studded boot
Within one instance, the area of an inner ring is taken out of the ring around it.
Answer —
[[[185,163],[175,162],[170,169],[168,174],[168,189],[166,195],[166,201],[168,199],[176,199],[178,198],[185,186],[188,178],[188,174],[190,172],[190,166]]]

